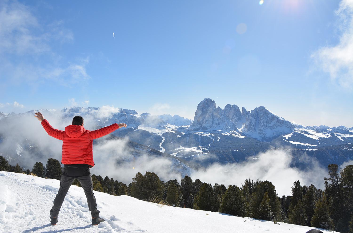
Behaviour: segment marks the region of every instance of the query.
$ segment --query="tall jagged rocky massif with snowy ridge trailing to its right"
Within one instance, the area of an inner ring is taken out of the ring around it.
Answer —
[[[250,112],[243,107],[240,112],[239,107],[235,104],[227,104],[224,109],[216,107],[215,101],[210,98],[205,98],[198,104],[194,121],[188,130],[190,132],[221,130],[255,138],[259,141],[271,141],[278,136],[284,136],[286,139],[288,137],[294,138],[295,135],[301,133],[309,138],[335,136],[342,142],[353,142],[352,128],[297,125],[277,116],[264,106],[257,107]],[[294,133],[294,135],[289,136],[290,133]]]

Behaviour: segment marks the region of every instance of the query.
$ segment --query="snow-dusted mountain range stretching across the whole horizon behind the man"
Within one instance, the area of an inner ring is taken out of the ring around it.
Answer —
[[[322,159],[323,166],[353,159],[353,151],[349,149],[349,144],[353,144],[353,127],[293,124],[263,106],[251,111],[242,107],[240,111],[237,105],[227,104],[222,109],[210,98],[198,104],[193,120],[178,115],[139,114],[135,110],[103,106],[40,109],[2,117],[0,115],[0,126],[13,124],[16,122],[14,118],[32,117],[37,111],[41,111],[59,129],[70,124],[75,115],[82,115],[85,128],[90,130],[113,123],[126,123],[126,129],[117,130],[113,135],[127,137],[138,144],[193,161],[189,165],[194,167],[216,161],[242,161],[272,147],[286,147],[302,152],[316,151],[313,156],[326,158]],[[6,133],[1,132],[0,127],[0,142]],[[347,150],[337,149],[345,146]]]

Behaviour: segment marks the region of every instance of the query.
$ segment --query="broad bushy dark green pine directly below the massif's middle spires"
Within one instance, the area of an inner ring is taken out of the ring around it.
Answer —
[[[229,185],[222,198],[222,205],[220,211],[225,214],[244,217],[245,199],[243,193],[236,185]]]

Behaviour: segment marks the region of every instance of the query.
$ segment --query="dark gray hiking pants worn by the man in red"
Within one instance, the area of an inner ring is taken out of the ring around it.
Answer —
[[[92,217],[99,217],[99,210],[97,209],[97,202],[93,193],[92,177],[89,166],[86,164],[64,165],[64,172],[60,178],[60,188],[54,199],[54,205],[50,210],[50,217],[58,217],[62,202],[64,202],[67,191],[75,179],[81,183]]]

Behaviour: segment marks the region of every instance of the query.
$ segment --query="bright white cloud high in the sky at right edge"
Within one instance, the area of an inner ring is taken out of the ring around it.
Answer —
[[[342,0],[335,12],[339,17],[340,40],[318,49],[311,57],[332,80],[346,87],[353,85],[353,0]]]

